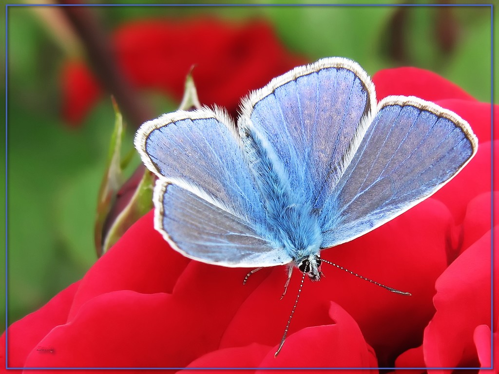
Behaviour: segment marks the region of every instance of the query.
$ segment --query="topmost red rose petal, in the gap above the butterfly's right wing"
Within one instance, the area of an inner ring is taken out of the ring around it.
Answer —
[[[428,70],[400,67],[380,70],[373,76],[378,101],[389,95],[417,96],[428,101],[461,99],[476,101],[461,87]]]

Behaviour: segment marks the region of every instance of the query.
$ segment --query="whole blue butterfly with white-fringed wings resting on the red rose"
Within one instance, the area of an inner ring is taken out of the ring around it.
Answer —
[[[429,197],[478,149],[469,124],[434,103],[378,103],[368,74],[341,57],[272,79],[240,113],[235,123],[218,107],[179,110],[139,128],[135,147],[158,176],[155,228],[189,258],[287,264],[288,282],[297,267],[301,285],[321,278],[323,249]]]

